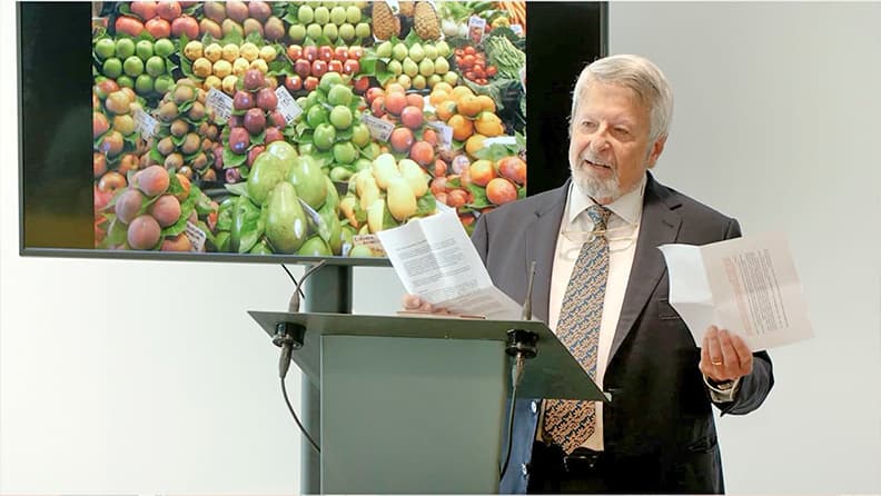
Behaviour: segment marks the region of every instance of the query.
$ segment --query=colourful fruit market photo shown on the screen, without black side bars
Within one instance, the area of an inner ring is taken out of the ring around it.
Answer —
[[[526,196],[523,0],[91,12],[96,249],[384,257]]]

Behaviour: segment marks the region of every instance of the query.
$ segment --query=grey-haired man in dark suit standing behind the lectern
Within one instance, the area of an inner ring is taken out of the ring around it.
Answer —
[[[699,347],[667,300],[660,245],[741,234],[649,172],[672,106],[666,78],[642,57],[588,65],[573,92],[571,180],[475,227],[493,281],[515,300],[536,261],[535,316],[611,395],[607,405],[518,399],[502,493],[723,493],[712,406],[746,414],[771,390],[765,353],[715,327]]]

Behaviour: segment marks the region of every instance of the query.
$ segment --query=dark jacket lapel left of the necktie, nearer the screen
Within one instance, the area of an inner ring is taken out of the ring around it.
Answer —
[[[551,276],[554,271],[554,252],[560,235],[560,222],[566,206],[570,181],[550,195],[548,201],[537,205],[535,217],[526,236],[526,267],[535,260],[535,281],[533,282],[533,311],[535,317],[547,323],[548,302],[551,300]]]

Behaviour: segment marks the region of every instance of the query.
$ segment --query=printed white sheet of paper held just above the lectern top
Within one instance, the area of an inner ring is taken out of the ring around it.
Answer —
[[[377,236],[408,294],[454,314],[521,318],[521,306],[493,286],[454,210]]]

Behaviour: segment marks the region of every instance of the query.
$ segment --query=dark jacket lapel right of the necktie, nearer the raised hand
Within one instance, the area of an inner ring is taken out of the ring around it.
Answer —
[[[646,172],[647,173],[647,172]],[[651,173],[645,186],[645,199],[640,220],[640,237],[633,257],[624,305],[621,308],[612,349],[608,355],[611,364],[621,344],[633,329],[636,318],[642,314],[652,294],[666,270],[664,257],[657,249],[660,245],[675,242],[682,218],[675,211],[679,204],[672,201],[663,186],[659,185]]]

